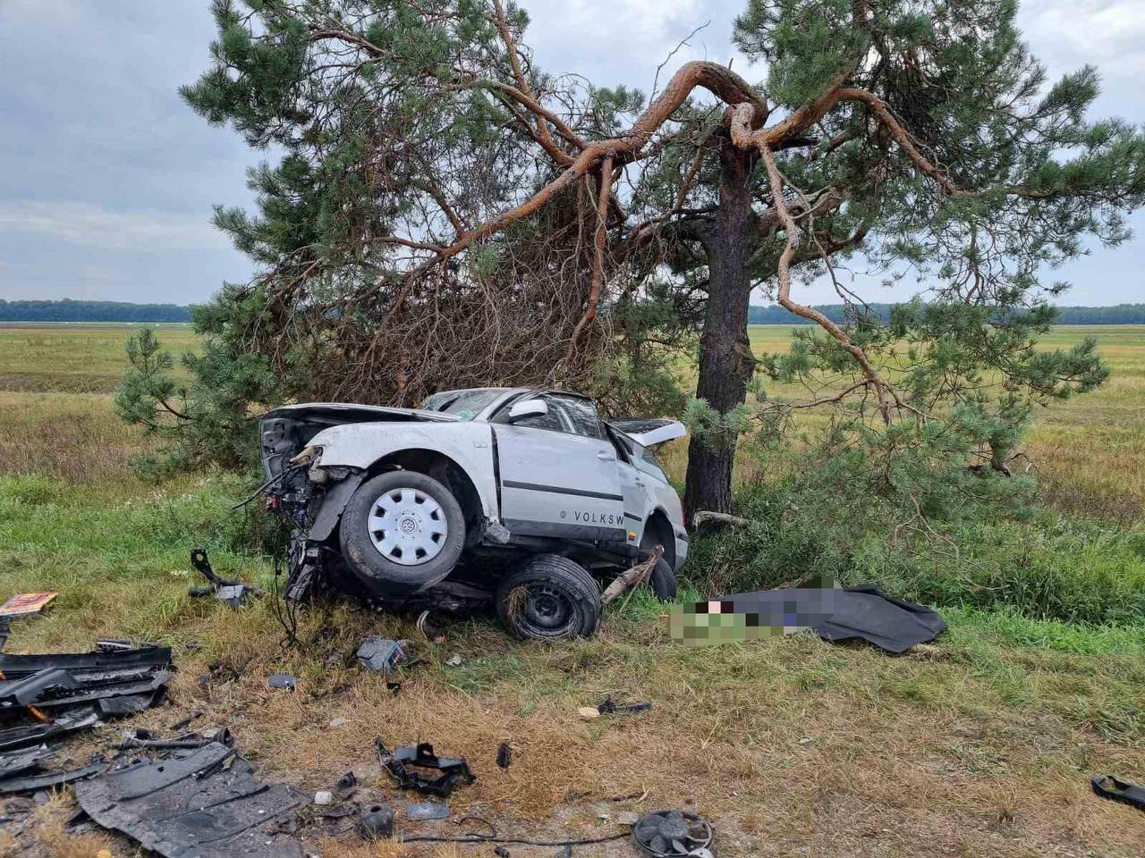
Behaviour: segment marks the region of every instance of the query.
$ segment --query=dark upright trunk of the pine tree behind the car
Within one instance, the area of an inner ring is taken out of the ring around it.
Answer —
[[[748,259],[755,215],[751,210],[751,169],[755,156],[726,140],[720,149],[719,209],[704,240],[708,255],[708,307],[700,337],[700,381],[696,396],[727,413],[743,404],[755,366],[748,342],[751,277]],[[700,509],[728,513],[732,508],[734,434],[692,438],[684,493],[685,516]]]

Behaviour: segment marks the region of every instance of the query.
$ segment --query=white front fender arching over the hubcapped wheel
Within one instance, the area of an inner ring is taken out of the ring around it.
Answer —
[[[489,424],[477,421],[449,423],[347,423],[323,429],[310,439],[321,447],[318,468],[366,470],[404,450],[428,450],[453,460],[473,482],[485,518],[498,518],[493,442]]]

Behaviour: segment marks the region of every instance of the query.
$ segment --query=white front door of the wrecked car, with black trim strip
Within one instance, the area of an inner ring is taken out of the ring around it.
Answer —
[[[616,450],[590,399],[542,394],[548,413],[493,418],[502,521],[512,533],[627,542]]]

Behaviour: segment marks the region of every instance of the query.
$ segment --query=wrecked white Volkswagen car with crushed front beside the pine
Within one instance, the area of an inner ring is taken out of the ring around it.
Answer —
[[[599,581],[656,546],[649,583],[676,594],[688,537],[652,447],[684,435],[677,421],[479,388],[423,408],[291,405],[260,431],[264,493],[295,526],[295,596],[319,582],[386,604],[484,593],[518,636],[569,637],[595,629]]]

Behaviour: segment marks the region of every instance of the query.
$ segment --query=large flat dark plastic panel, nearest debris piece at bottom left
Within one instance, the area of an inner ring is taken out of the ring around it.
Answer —
[[[287,831],[302,796],[260,781],[250,762],[221,742],[80,781],[76,800],[97,825],[166,858],[302,856]]]

